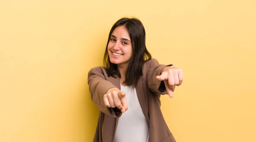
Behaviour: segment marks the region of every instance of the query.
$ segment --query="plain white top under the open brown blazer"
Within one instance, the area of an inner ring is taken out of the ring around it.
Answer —
[[[122,86],[128,110],[119,118],[114,142],[148,142],[149,128],[135,88]]]

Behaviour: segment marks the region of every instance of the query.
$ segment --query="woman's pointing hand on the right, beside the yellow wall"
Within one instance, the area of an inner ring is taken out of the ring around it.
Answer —
[[[175,66],[163,68],[161,75],[157,75],[158,81],[164,81],[166,91],[170,97],[173,97],[175,86],[179,86],[183,81],[183,72],[180,68]]]

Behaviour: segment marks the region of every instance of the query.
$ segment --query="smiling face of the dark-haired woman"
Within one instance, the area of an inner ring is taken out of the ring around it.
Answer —
[[[111,63],[128,67],[132,56],[131,39],[124,26],[116,27],[108,42],[108,56]]]

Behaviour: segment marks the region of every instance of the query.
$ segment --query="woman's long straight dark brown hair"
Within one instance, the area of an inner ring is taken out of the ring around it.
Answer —
[[[151,59],[151,54],[148,52],[145,45],[145,28],[142,22],[137,18],[121,18],[111,28],[108,36],[108,43],[111,38],[113,30],[118,26],[124,26],[128,31],[131,39],[132,56],[130,63],[126,70],[124,83],[127,86],[135,87],[140,76],[142,75],[143,64],[145,61]],[[108,43],[106,46],[103,64],[107,68],[109,76],[115,75],[121,77],[116,64],[111,63],[108,56]]]

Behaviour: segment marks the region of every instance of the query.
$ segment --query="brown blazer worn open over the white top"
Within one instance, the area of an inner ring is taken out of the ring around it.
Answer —
[[[160,94],[167,94],[163,82],[155,78],[164,67],[156,59],[145,61],[143,75],[136,86],[138,100],[149,125],[149,142],[176,142],[160,109]],[[93,142],[113,142],[119,117],[118,108],[104,105],[103,95],[113,87],[120,89],[120,78],[109,77],[104,67],[95,67],[88,72],[91,99],[99,108],[99,120]],[[129,109],[129,106],[128,106]]]

